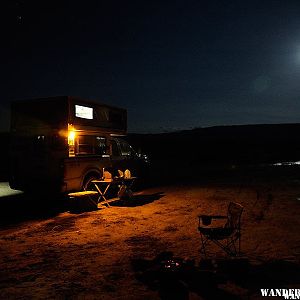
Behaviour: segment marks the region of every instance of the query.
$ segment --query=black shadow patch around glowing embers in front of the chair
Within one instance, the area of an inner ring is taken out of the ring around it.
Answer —
[[[153,260],[133,259],[136,278],[161,299],[249,299],[260,297],[261,288],[299,287],[299,264],[276,260],[254,264],[246,258],[194,261],[163,252]]]

